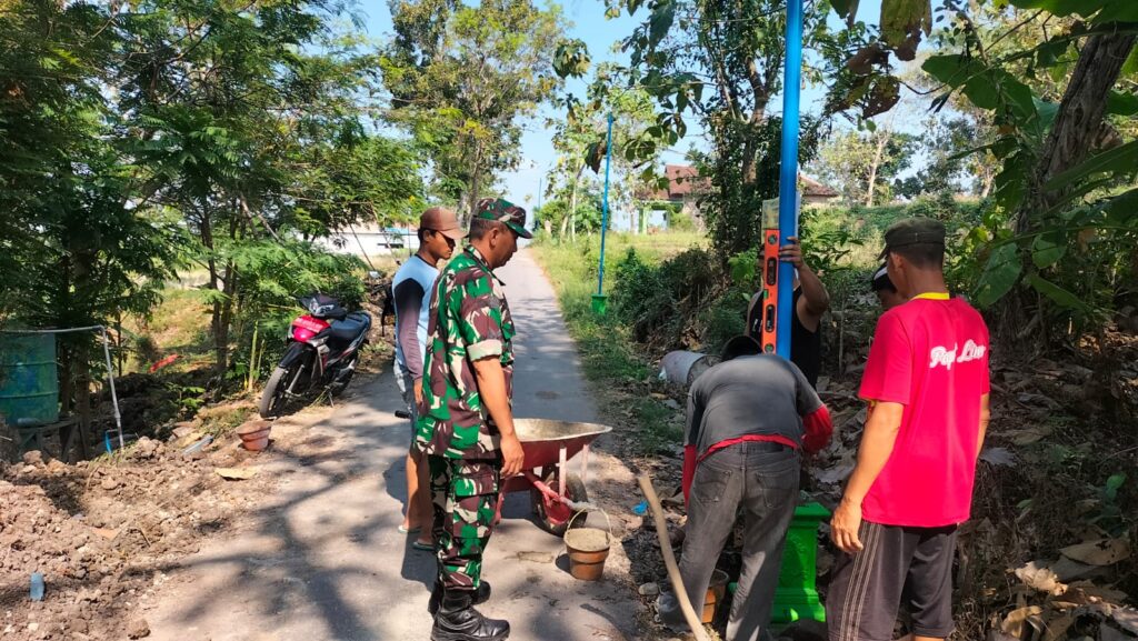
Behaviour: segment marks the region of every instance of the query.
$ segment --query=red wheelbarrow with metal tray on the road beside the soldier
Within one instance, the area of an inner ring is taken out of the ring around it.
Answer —
[[[588,477],[588,445],[597,436],[612,432],[611,427],[592,422],[568,422],[546,419],[514,419],[513,428],[526,454],[520,475],[505,479],[498,495],[502,500],[510,492],[529,491],[530,506],[537,520],[549,532],[562,535],[569,519],[588,507],[585,479]],[[580,474],[572,474],[566,461],[580,454]],[[583,525],[586,517],[574,526]]]

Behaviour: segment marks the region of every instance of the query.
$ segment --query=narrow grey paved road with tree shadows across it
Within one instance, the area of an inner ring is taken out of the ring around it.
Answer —
[[[516,413],[594,420],[553,291],[527,252],[500,270],[519,328]],[[360,386],[329,418],[284,436],[264,474],[277,495],[241,517],[237,535],[188,559],[142,613],[152,639],[196,641],[426,640],[434,558],[399,535],[409,428],[391,413],[390,375]],[[287,426],[281,426],[288,429]],[[597,457],[591,485],[627,485],[619,461]],[[485,576],[494,597],[480,609],[504,617],[514,640],[624,640],[637,606],[613,548],[601,583],[574,580],[561,540],[512,494],[490,542]],[[523,559],[519,557],[522,552]],[[556,560],[554,560],[556,559]]]

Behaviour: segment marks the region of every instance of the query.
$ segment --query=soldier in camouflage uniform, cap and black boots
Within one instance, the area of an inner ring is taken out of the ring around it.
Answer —
[[[510,409],[513,320],[494,269],[531,238],[526,211],[484,198],[470,246],[439,274],[431,296],[423,408],[417,443],[428,455],[438,578],[428,606],[432,641],[497,641],[510,624],[473,608],[489,598],[483,551],[497,512],[498,483],[521,470]]]

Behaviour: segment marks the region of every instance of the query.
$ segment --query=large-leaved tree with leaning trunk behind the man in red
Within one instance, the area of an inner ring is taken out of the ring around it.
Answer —
[[[849,14],[848,2],[838,8]],[[883,3],[882,38],[850,52],[832,101],[855,102],[855,93],[841,94],[888,75],[891,55],[912,59],[915,48],[891,34],[920,41],[932,15],[927,0]],[[1001,17],[999,30],[978,23],[992,15]],[[997,334],[1008,348],[1029,336],[1040,337],[1037,345],[1053,334],[1075,338],[1100,323],[1124,295],[1122,283],[1138,276],[1138,141],[1127,140],[1132,125],[1120,123],[1138,112],[1138,5],[945,0],[938,20],[946,19],[940,51],[922,65],[940,83],[933,107],[958,100],[986,113],[995,135],[975,151],[991,153],[999,166],[992,208],[960,248],[979,257],[974,299],[1000,302]],[[858,59],[868,61],[852,64]]]

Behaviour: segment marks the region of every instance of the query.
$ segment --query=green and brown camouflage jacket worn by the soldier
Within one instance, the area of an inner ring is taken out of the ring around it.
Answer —
[[[498,457],[501,436],[483,406],[471,363],[497,356],[512,397],[513,335],[502,282],[478,249],[467,247],[439,273],[430,299],[415,433],[423,452],[452,459]]]

